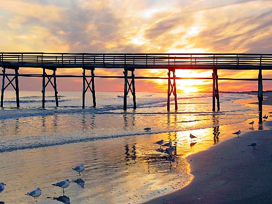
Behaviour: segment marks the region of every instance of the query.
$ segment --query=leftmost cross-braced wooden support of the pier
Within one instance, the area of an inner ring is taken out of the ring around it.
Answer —
[[[4,100],[4,90],[11,85],[16,93],[16,106],[20,107],[20,100],[19,100],[19,80],[18,80],[18,74],[19,74],[19,67],[9,67],[9,69],[14,69],[15,76],[10,80],[7,75],[5,75],[6,68],[3,67],[2,73],[2,89],[1,89],[1,104],[0,106],[3,107],[3,100]],[[7,85],[5,86],[5,78],[9,81]],[[15,80],[15,86],[12,83]]]

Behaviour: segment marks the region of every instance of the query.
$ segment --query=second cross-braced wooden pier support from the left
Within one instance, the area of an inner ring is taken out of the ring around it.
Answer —
[[[49,70],[52,70],[53,71],[53,74],[52,76],[48,76],[45,69],[49,69]],[[45,80],[47,78],[47,82],[45,84]],[[51,81],[51,79],[53,78],[53,82]],[[45,88],[47,87],[48,84],[51,84],[53,89],[54,89],[54,92],[55,92],[55,102],[56,102],[56,106],[58,107],[58,92],[57,92],[57,83],[56,83],[56,68],[45,68],[43,67],[43,90],[42,90],[42,93],[43,93],[43,108],[45,108]]]

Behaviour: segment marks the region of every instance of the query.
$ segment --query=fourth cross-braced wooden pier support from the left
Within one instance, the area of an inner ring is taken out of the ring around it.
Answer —
[[[131,81],[128,80],[128,71],[131,72]],[[136,109],[136,91],[135,91],[135,74],[134,69],[127,69],[124,70],[124,106],[123,109],[127,110],[127,96],[131,92],[133,96],[133,109]]]

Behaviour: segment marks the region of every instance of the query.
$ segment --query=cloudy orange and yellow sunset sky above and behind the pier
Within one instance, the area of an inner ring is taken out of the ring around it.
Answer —
[[[272,0],[0,0],[0,51],[272,53]],[[82,69],[57,70],[81,73]],[[230,78],[258,76],[257,71],[218,73]],[[121,76],[123,70],[95,69],[95,74]],[[177,77],[211,75],[210,70],[177,71]],[[136,76],[167,77],[167,71],[136,70]],[[272,78],[272,71],[263,71],[263,77]],[[211,83],[177,80],[177,89],[212,91]],[[21,77],[19,84],[20,90],[42,90],[39,78]],[[82,91],[82,79],[57,79],[57,86],[59,91]],[[97,91],[123,87],[122,79],[95,79]],[[219,90],[257,90],[257,82],[220,81]],[[272,90],[271,81],[264,82],[264,90]],[[167,80],[136,80],[137,91],[167,91]]]

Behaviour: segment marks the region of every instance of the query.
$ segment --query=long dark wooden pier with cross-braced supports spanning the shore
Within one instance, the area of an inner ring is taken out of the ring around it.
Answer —
[[[176,80],[204,79],[213,81],[213,111],[220,109],[219,101],[219,80],[242,80],[258,81],[258,102],[259,110],[262,111],[263,103],[263,79],[262,70],[272,70],[272,54],[242,54],[242,53],[44,53],[44,52],[0,52],[0,66],[2,67],[2,89],[1,104],[3,107],[4,90],[12,86],[16,92],[16,105],[20,106],[19,100],[19,77],[42,77],[43,78],[43,100],[42,107],[45,107],[45,88],[50,84],[55,93],[55,102],[58,106],[57,78],[82,78],[82,107],[85,108],[85,94],[88,90],[92,94],[93,107],[95,100],[95,78],[122,78],[124,79],[124,110],[127,110],[127,95],[133,95],[133,108],[136,109],[136,79],[165,79],[168,80],[167,110],[170,111],[170,97],[174,95],[175,110],[178,110]],[[43,69],[43,74],[19,74],[19,68],[33,67]],[[57,75],[58,69],[82,68],[82,75]],[[95,69],[122,69],[124,76],[97,76]],[[14,74],[7,74],[6,70],[14,70]],[[166,69],[166,77],[143,77],[135,76],[136,69]],[[177,69],[211,70],[211,77],[184,78],[177,77]],[[259,70],[258,78],[219,78],[218,70]],[[50,70],[53,73],[47,74]],[[86,75],[86,70],[91,75]],[[90,79],[89,79],[90,78]],[[8,83],[5,85],[5,79]],[[88,80],[89,79],[89,80]],[[15,85],[13,84],[15,81]],[[257,86],[256,86],[257,87]]]

